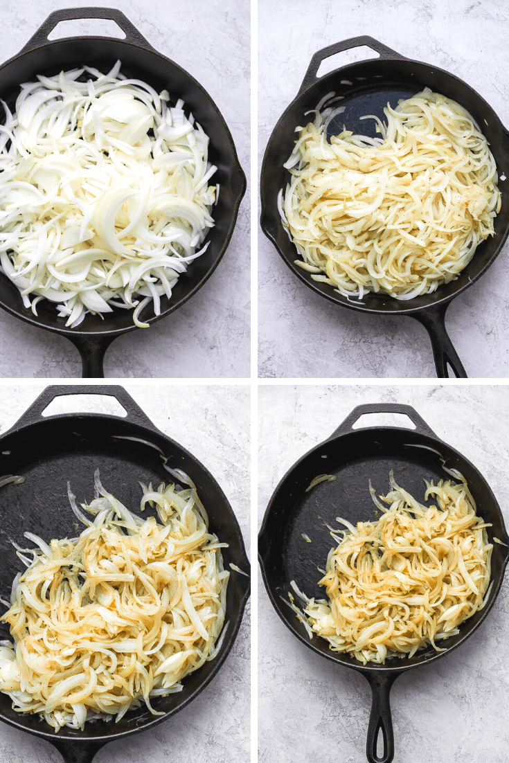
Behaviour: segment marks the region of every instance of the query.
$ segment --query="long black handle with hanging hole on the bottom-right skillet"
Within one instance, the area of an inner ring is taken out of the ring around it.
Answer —
[[[379,671],[364,675],[372,691],[366,757],[369,763],[391,763],[394,758],[394,733],[392,731],[390,694],[392,684],[394,684],[397,676]],[[382,734],[383,737],[382,757],[377,754],[379,734]]]

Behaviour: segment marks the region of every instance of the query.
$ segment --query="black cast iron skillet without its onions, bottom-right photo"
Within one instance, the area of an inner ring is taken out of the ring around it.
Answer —
[[[406,414],[415,425],[414,430],[398,427],[369,427],[353,429],[362,414]],[[466,458],[446,445],[430,430],[417,411],[409,405],[367,404],[359,405],[346,417],[340,427],[325,440],[302,456],[286,473],[275,488],[269,501],[262,529],[259,533],[259,563],[267,593],[287,626],[309,649],[346,668],[353,668],[367,679],[372,688],[372,708],[369,719],[366,755],[370,763],[391,763],[394,757],[389,694],[398,675],[417,665],[425,665],[440,659],[456,649],[488,616],[500,591],[504,570],[509,560],[509,548],[494,543],[491,558],[493,588],[485,608],[475,613],[459,627],[459,634],[440,642],[445,652],[435,652],[433,647],[418,652],[412,658],[388,659],[385,665],[362,665],[350,655],[331,652],[328,642],[318,636],[309,639],[304,626],[282,599],[288,600],[290,582],[295,580],[300,591],[308,597],[324,598],[324,590],[317,585],[324,568],[327,554],[334,546],[330,526],[336,517],[357,522],[375,520],[375,504],[369,494],[369,480],[377,494],[388,492],[388,474],[394,470],[398,485],[406,488],[417,501],[424,502],[424,478],[447,478],[437,453],[424,449],[427,446],[442,454],[448,468],[456,468],[466,478],[477,503],[479,516],[492,526],[488,538],[497,537],[509,543],[502,513],[485,478]],[[337,475],[336,481],[322,482],[308,493],[311,480],[320,474]],[[304,542],[302,533],[311,538]],[[384,752],[377,755],[377,741],[382,732]]]

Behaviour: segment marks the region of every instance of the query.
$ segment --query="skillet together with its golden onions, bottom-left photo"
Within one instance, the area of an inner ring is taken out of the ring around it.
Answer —
[[[43,415],[66,394],[111,395],[127,415]],[[0,719],[90,763],[178,713],[224,664],[250,595],[242,534],[208,469],[122,387],[48,387],[0,439]]]

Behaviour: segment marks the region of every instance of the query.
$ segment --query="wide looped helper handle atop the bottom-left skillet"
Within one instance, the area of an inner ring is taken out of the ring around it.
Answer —
[[[148,427],[153,432],[159,433],[154,427],[150,418],[141,410],[140,406],[131,398],[130,394],[120,385],[54,385],[43,390],[39,397],[25,410],[24,414],[12,427],[13,430],[19,427],[25,427],[29,424],[43,421],[44,410],[55,399],[68,394],[108,394],[115,398],[124,408],[127,416],[125,420],[129,423],[139,424],[142,427]]]

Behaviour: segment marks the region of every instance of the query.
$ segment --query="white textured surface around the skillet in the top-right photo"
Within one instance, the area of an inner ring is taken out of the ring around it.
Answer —
[[[500,0],[259,0],[259,166],[313,53],[360,34],[461,77],[509,126],[507,28],[509,5]],[[356,58],[352,53],[335,65],[333,60],[328,70]],[[341,309],[301,283],[261,231],[258,249],[260,376],[436,376],[427,333],[416,320]],[[446,316],[471,377],[509,375],[508,255],[506,243]]]

